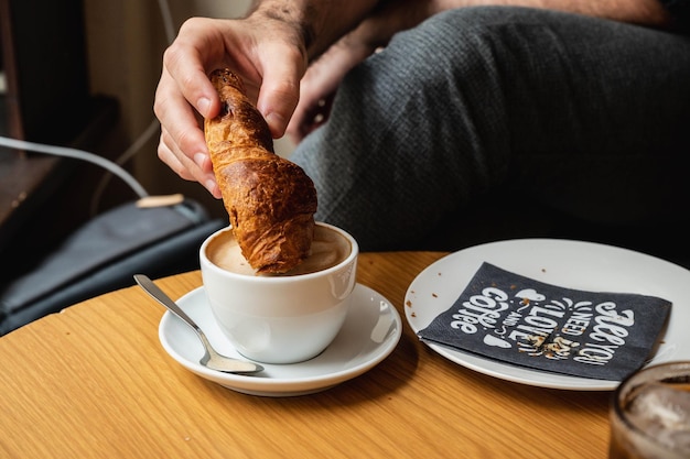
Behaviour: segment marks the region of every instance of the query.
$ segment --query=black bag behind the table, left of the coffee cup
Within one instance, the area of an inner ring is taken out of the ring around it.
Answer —
[[[164,207],[129,203],[89,220],[30,273],[0,292],[0,336],[90,297],[133,285],[133,274],[161,277],[198,269],[198,249],[227,221],[195,201]]]

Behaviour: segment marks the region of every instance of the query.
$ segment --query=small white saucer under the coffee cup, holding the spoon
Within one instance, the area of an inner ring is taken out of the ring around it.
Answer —
[[[265,364],[256,375],[228,374],[202,367],[204,353],[194,331],[170,312],[159,326],[165,351],[187,370],[237,392],[263,396],[304,395],[324,391],[370,370],[392,352],[402,334],[400,315],[391,303],[369,287],[357,284],[343,328],[315,358],[293,364]],[[208,337],[212,346],[228,357],[241,356],[216,325],[203,287],[177,300]]]

